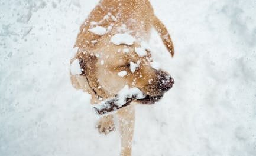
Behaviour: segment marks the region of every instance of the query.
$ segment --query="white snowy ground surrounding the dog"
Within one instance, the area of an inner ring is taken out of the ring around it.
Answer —
[[[96,0],[0,0],[0,155],[119,155],[95,129],[89,95],[69,81],[79,26]],[[133,155],[256,154],[256,1],[151,0],[171,32],[176,80],[137,107]],[[161,49],[161,50],[159,50]]]

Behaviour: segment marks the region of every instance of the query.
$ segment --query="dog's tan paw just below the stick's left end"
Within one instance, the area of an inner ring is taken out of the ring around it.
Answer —
[[[109,134],[109,132],[114,131],[115,130],[115,124],[113,121],[113,117],[112,115],[110,115],[111,117],[106,116],[106,117],[102,117],[101,119],[99,119],[96,128],[98,128],[99,133],[103,133],[103,134]]]

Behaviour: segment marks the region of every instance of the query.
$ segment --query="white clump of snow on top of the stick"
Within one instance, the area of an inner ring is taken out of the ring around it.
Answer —
[[[126,104],[127,98],[132,97],[135,99],[143,99],[145,98],[145,94],[138,88],[129,88],[128,85],[125,85],[125,87],[118,92],[118,101],[116,104],[122,107],[122,105]]]

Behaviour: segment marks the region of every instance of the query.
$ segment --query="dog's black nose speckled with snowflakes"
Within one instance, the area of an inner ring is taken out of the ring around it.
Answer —
[[[173,87],[174,79],[171,78],[166,72],[157,71],[158,87],[161,92],[167,92]]]

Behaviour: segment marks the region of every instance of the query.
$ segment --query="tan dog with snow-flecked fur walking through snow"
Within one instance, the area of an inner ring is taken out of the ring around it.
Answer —
[[[80,68],[70,72],[72,85],[92,95],[92,104],[115,97],[125,85],[145,94],[117,111],[122,156],[132,151],[134,104],[153,104],[174,84],[167,72],[151,65],[151,51],[145,43],[152,28],[173,56],[170,34],[148,0],[102,0],[80,27],[75,44],[78,50],[70,61],[70,69],[74,64]],[[105,134],[114,130],[113,115],[102,117],[97,127]]]

